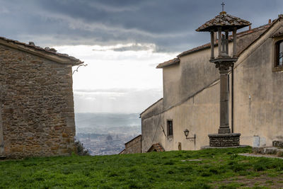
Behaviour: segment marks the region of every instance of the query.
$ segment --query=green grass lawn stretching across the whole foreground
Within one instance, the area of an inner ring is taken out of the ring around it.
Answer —
[[[283,188],[283,160],[205,149],[0,161],[0,188]]]

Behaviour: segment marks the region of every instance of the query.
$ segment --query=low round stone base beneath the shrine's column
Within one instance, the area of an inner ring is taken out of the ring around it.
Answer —
[[[241,133],[208,134],[209,147],[237,147],[240,145]]]

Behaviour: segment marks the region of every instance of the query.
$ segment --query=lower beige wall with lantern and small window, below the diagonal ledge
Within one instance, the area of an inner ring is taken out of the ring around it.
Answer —
[[[142,152],[152,144],[160,143],[166,150],[177,150],[179,142],[182,149],[200,149],[207,145],[210,133],[219,127],[219,84],[216,82],[205,88],[197,96],[185,103],[148,118],[141,115]],[[156,103],[153,109],[161,106]],[[144,114],[146,115],[146,113]],[[173,137],[167,136],[167,120],[173,120]],[[196,134],[196,142],[185,139],[184,130],[190,131],[188,137]]]

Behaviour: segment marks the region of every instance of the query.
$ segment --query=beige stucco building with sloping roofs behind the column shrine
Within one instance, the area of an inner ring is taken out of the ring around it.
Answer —
[[[229,42],[229,49],[232,45]],[[166,151],[209,145],[208,134],[219,128],[219,71],[209,62],[210,47],[195,47],[158,64],[163,69],[163,98],[140,115],[142,152],[156,143]],[[238,33],[236,49],[233,83],[229,73],[229,88],[234,88],[229,125],[241,133],[241,144],[271,146],[283,139],[283,15]]]

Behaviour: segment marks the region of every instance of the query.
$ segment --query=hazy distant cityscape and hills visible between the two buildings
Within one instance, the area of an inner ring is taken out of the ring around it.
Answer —
[[[91,156],[119,154],[125,149],[125,143],[139,134],[138,114],[76,114],[76,140]]]

